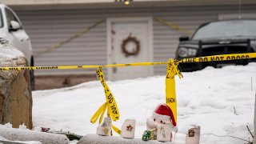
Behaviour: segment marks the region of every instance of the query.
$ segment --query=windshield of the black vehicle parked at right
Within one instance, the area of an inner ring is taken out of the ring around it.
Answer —
[[[256,20],[210,22],[199,28],[192,39],[256,37]]]

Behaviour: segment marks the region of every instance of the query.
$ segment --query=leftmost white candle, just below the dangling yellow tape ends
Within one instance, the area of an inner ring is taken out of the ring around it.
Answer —
[[[111,123],[111,118],[104,118],[102,125],[97,127],[96,134],[110,136]]]

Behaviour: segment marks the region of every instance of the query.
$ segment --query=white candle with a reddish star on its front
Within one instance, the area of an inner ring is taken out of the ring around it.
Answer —
[[[122,124],[122,138],[134,138],[135,134],[135,119],[126,119]]]

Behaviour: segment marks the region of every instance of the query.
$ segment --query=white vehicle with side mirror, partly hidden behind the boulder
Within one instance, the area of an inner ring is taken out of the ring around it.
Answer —
[[[26,55],[30,66],[34,66],[32,46],[22,22],[10,7],[0,4],[0,38],[5,38]],[[31,88],[34,90],[34,71],[30,70]]]

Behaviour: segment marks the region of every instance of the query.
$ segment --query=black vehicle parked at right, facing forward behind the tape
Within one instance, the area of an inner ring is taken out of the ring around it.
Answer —
[[[179,38],[176,59],[254,52],[256,52],[256,20],[226,20],[204,23],[198,27],[191,38]],[[246,65],[251,61],[255,61],[255,58],[180,63],[180,66],[182,71],[194,71],[202,70],[206,66]]]

